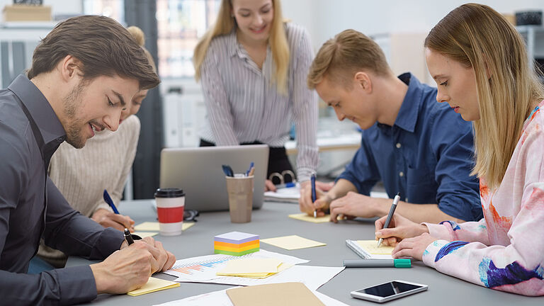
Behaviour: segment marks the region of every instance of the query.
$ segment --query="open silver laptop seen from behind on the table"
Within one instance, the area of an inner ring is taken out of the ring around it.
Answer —
[[[161,152],[161,188],[181,188],[186,209],[229,210],[227,183],[222,165],[235,174],[246,173],[255,164],[253,208],[263,205],[264,181],[268,170],[267,145],[231,147],[167,148]]]

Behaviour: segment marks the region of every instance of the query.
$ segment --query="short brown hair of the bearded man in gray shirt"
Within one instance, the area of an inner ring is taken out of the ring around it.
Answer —
[[[160,82],[142,47],[112,18],[77,16],[57,24],[34,50],[28,79],[50,72],[67,55],[81,62],[86,80],[117,74],[150,89]]]

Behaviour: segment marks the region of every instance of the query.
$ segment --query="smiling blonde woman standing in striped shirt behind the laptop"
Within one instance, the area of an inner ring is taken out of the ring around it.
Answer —
[[[194,54],[208,111],[200,145],[263,143],[267,176],[293,171],[284,145],[294,120],[297,178],[308,181],[318,160],[317,96],[305,83],[311,62],[306,31],[283,21],[279,0],[223,0]]]

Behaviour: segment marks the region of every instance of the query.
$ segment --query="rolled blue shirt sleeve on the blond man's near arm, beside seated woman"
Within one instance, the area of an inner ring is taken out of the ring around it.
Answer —
[[[435,108],[431,149],[436,155],[436,200],[444,213],[465,221],[483,217],[479,180],[470,176],[474,166],[472,125],[450,109]],[[446,110],[446,111],[445,111]],[[447,124],[444,124],[447,123]]]

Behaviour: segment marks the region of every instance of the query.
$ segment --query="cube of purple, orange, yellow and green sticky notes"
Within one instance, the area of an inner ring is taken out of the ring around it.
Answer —
[[[228,232],[214,237],[215,254],[242,256],[259,251],[259,235]]]

